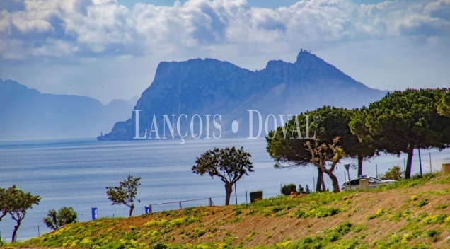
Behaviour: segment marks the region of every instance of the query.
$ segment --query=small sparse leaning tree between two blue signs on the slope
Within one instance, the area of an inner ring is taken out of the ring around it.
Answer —
[[[141,178],[133,178],[132,175],[128,175],[128,178],[122,182],[119,182],[119,186],[106,187],[106,195],[108,199],[113,202],[112,205],[124,204],[129,207],[129,216],[132,216],[134,210],[134,203],[136,202],[137,187],[141,185],[139,183]],[[137,202],[141,202],[137,199]]]

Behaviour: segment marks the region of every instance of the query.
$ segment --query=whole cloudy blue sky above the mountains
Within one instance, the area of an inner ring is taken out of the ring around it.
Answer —
[[[0,0],[0,78],[102,103],[161,61],[260,70],[301,48],[371,88],[449,87],[450,0]]]

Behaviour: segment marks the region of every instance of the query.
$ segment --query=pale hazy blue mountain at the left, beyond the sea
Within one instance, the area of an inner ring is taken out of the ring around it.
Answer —
[[[129,117],[134,105],[75,95],[42,94],[0,79],[0,140],[96,137]]]

